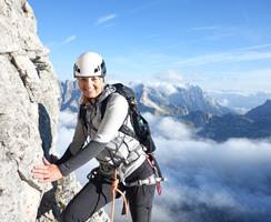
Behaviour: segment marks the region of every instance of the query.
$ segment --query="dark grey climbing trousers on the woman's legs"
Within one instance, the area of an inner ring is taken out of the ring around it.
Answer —
[[[155,185],[124,186],[133,222],[150,222]],[[117,195],[119,198],[120,195]],[[99,176],[91,179],[62,212],[62,222],[84,222],[112,200],[111,184]]]

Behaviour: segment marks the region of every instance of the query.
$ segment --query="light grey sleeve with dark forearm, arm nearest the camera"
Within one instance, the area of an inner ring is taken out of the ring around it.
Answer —
[[[99,154],[114,137],[128,113],[128,102],[120,94],[113,94],[108,101],[104,118],[98,129],[98,133],[83,149],[79,150],[76,155],[59,165],[63,175],[68,175],[92,158]]]

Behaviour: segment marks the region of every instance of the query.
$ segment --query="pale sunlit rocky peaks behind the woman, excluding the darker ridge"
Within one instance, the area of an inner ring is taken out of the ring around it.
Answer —
[[[80,90],[76,81],[62,81],[61,111],[78,111]],[[198,85],[178,87],[172,84],[129,84],[134,90],[141,112],[151,112],[155,115],[184,117],[194,111],[202,111],[212,115],[222,115],[232,112],[219,104],[202,91]]]

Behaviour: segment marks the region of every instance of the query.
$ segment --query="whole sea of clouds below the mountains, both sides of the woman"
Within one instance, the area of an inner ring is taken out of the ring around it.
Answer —
[[[155,222],[270,222],[271,143],[230,139],[223,143],[195,140],[193,132],[172,118],[144,113],[163,175],[162,195],[152,212]],[[72,140],[77,114],[62,112],[58,152]],[[77,170],[81,184],[98,163]],[[120,202],[121,204],[121,202]],[[128,221],[126,216],[118,221]]]

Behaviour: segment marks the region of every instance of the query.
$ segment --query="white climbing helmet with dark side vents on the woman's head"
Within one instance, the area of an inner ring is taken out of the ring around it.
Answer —
[[[73,67],[73,75],[78,77],[102,77],[107,73],[102,57],[96,52],[80,54]]]

